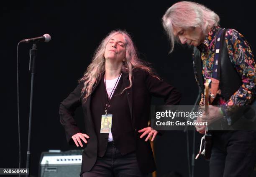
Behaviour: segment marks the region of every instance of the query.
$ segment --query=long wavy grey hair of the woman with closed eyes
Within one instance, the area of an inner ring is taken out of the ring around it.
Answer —
[[[82,88],[82,95],[84,94],[83,100],[86,101],[87,97],[92,92],[92,88],[97,83],[98,79],[100,78],[101,74],[105,72],[105,48],[108,43],[108,41],[117,34],[123,35],[124,41],[125,41],[125,62],[123,63],[122,72],[129,73],[129,80],[130,85],[126,87],[124,90],[131,88],[132,86],[132,75],[133,70],[136,68],[143,69],[149,74],[153,75],[154,77],[157,77],[154,75],[154,72],[152,69],[148,66],[146,66],[137,55],[136,47],[133,44],[133,41],[131,40],[131,36],[123,31],[123,30],[115,30],[110,32],[107,37],[105,37],[102,42],[100,43],[99,47],[95,51],[95,54],[92,58],[91,64],[87,67],[87,71],[84,73],[84,76],[79,80],[79,82],[84,81],[84,87]],[[157,77],[158,78],[158,77]],[[159,79],[159,78],[158,78]],[[123,91],[124,91],[123,90]],[[122,93],[123,93],[122,91]]]

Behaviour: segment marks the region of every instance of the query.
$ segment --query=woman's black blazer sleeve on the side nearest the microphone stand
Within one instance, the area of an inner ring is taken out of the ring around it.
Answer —
[[[74,91],[71,92],[59,106],[60,122],[65,129],[67,142],[69,144],[74,144],[71,137],[80,132],[79,128],[77,127],[77,123],[74,120],[74,112],[77,107],[81,106],[81,91],[82,82],[77,85]]]

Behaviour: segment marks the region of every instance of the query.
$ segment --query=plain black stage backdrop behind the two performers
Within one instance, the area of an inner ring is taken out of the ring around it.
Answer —
[[[0,167],[18,167],[18,119],[16,84],[16,46],[18,41],[49,33],[49,43],[38,44],[34,85],[31,140],[31,175],[38,176],[41,152],[69,150],[64,129],[59,123],[59,103],[77,85],[100,41],[115,29],[129,32],[140,57],[182,92],[182,105],[192,105],[197,85],[192,70],[192,50],[182,46],[168,55],[169,42],[161,26],[161,17],[176,0],[169,1],[8,1],[1,5],[1,153]],[[255,5],[253,1],[203,1],[220,15],[222,27],[234,28],[256,46]],[[19,48],[20,132],[22,167],[26,167],[28,113],[31,75],[28,72],[29,49]],[[154,99],[152,104],[162,104]],[[82,110],[76,119],[83,125]],[[81,127],[83,128],[83,126]],[[189,132],[190,142],[192,132]],[[196,152],[201,135],[196,135]],[[192,144],[190,143],[190,153]],[[158,177],[178,171],[188,176],[186,135],[167,132],[155,140]],[[195,163],[195,176],[208,175],[208,162],[201,157]]]

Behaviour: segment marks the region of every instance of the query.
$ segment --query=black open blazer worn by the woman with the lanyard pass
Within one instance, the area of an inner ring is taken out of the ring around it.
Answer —
[[[128,73],[123,73],[123,84],[125,87],[130,85]],[[151,97],[163,97],[165,105],[177,105],[180,101],[180,93],[164,81],[152,77],[144,70],[133,72],[133,83],[130,89],[125,90],[127,95],[129,110],[132,119],[134,137],[136,141],[136,155],[138,165],[142,173],[150,173],[156,170],[153,153],[149,141],[145,142],[145,138],[141,139],[138,130],[148,127],[149,112],[151,105]],[[99,83],[99,82],[97,82]],[[97,87],[98,84],[95,85]],[[81,90],[83,82],[75,88],[69,96],[61,102],[59,107],[59,115],[61,124],[64,126],[67,141],[74,144],[72,136],[80,132],[74,121],[74,111],[82,105],[84,113],[85,134],[90,136],[87,145],[84,147],[82,154],[82,169],[83,172],[88,172],[92,169],[97,159],[97,136],[94,130],[92,114],[90,110],[91,97],[87,98],[86,102],[82,101]],[[94,89],[95,89],[94,87]],[[92,92],[94,91],[92,90]],[[122,110],[120,110],[122,111]],[[80,175],[81,175],[80,174]]]

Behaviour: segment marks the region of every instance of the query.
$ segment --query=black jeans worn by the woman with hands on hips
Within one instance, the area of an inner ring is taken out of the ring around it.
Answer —
[[[146,163],[146,162],[145,162]],[[121,155],[113,142],[108,142],[106,153],[97,157],[90,172],[84,172],[82,177],[146,177],[138,167],[136,153]]]

